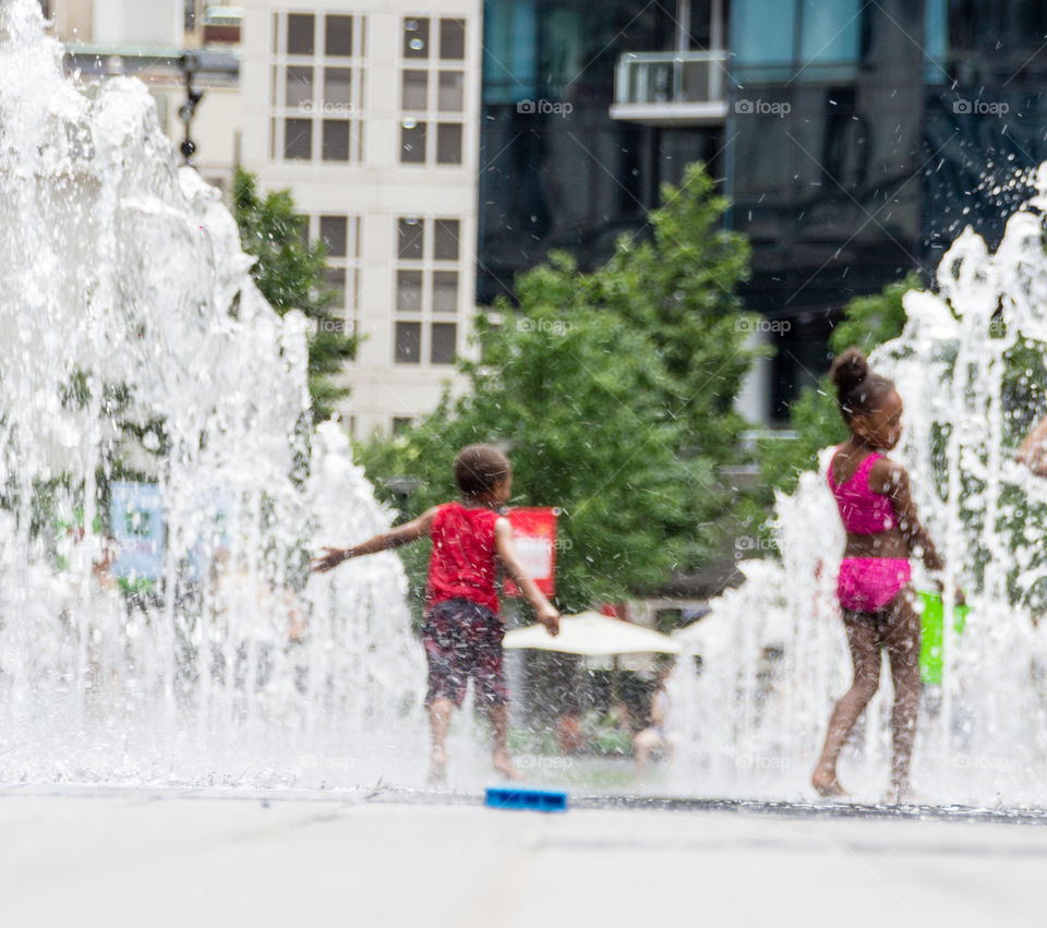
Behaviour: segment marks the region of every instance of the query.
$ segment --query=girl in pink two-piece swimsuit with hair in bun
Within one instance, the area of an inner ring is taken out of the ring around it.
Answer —
[[[908,559],[916,554],[930,570],[940,570],[942,563],[916,517],[905,470],[880,454],[893,449],[902,434],[902,400],[894,385],[870,371],[855,348],[833,361],[829,376],[851,430],[829,463],[828,479],[847,532],[837,592],[854,683],[832,710],[811,784],[823,796],[846,795],[837,779],[837,760],[879,686],[884,648],[894,684],[888,795],[891,802],[904,802],[919,704],[919,616],[908,586]]]

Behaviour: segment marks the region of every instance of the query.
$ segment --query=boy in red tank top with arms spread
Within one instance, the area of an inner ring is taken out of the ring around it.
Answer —
[[[498,563],[552,635],[559,631],[559,613],[527,575],[513,545],[509,520],[497,513],[508,502],[513,485],[513,470],[505,455],[489,445],[462,448],[455,459],[455,482],[461,491],[460,503],[434,506],[413,521],[354,547],[325,549],[313,559],[312,568],[326,571],[349,557],[399,547],[425,535],[432,539],[422,626],[429,664],[425,704],[432,733],[430,779],[442,783],[446,776],[447,726],[454,707],[461,706],[470,677],[477,702],[486,712],[494,733],[494,769],[517,779],[506,744],[508,694],[502,671],[505,628],[494,586]]]

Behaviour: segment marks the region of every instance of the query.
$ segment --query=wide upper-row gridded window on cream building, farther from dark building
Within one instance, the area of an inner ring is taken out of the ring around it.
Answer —
[[[365,17],[277,13],[273,23],[273,158],[361,164]]]

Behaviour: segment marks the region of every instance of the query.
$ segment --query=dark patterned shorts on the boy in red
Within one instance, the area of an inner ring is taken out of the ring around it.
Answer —
[[[502,672],[502,618],[469,600],[446,600],[432,606],[422,625],[422,641],[429,663],[425,704],[449,699],[461,706],[469,677],[477,706],[504,706],[509,694]]]

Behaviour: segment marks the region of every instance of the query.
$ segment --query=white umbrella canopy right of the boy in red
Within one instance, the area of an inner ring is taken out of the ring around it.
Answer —
[[[506,632],[503,648],[559,651],[565,654],[678,654],[679,644],[667,635],[623,622],[621,618],[581,612],[565,615],[559,620],[559,635],[555,638],[543,625],[529,625]]]

